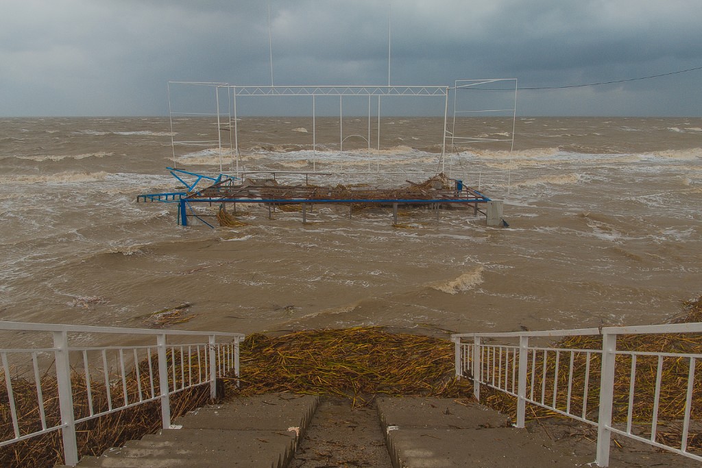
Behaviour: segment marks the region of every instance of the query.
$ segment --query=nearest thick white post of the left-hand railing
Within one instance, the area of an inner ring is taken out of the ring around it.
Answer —
[[[58,385],[58,402],[61,410],[63,457],[65,464],[75,466],[78,463],[78,445],[76,443],[76,424],[73,413],[68,334],[65,331],[53,332],[53,347],[55,347],[56,383]]]

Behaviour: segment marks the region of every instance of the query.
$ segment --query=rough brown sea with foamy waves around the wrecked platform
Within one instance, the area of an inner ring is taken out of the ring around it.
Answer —
[[[468,119],[498,141],[443,155],[443,119],[376,135],[348,118],[342,142],[338,118],[314,125],[242,119],[233,151],[197,117],[0,119],[0,320],[144,327],[180,307],[185,329],[468,333],[660,323],[702,290],[702,119],[522,118],[513,142],[511,119]],[[182,227],[176,204],[136,202],[182,190],[167,166],[373,187],[442,172],[503,200],[508,226],[322,205],[303,225],[251,204],[240,226]]]

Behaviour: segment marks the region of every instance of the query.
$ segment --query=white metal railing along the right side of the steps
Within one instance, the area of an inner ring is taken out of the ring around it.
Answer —
[[[581,330],[550,330],[515,333],[468,333],[451,335],[456,344],[456,377],[467,377],[473,382],[473,393],[480,399],[480,386],[485,385],[500,392],[505,392],[517,398],[517,427],[524,427],[526,405],[541,406],[574,420],[597,427],[597,466],[609,465],[609,446],[612,434],[635,439],[656,448],[670,450],[697,461],[702,456],[687,450],[688,434],[691,427],[691,402],[693,392],[702,391],[701,385],[695,381],[696,365],[702,354],[675,352],[643,352],[618,350],[617,337],[621,335],[649,335],[661,333],[702,333],[702,323],[681,323],[660,326],[630,326],[585,328]],[[535,339],[555,339],[576,335],[598,335],[602,338],[602,349],[564,349],[533,344]],[[502,343],[502,344],[498,344]],[[506,344],[505,344],[506,343]],[[600,377],[591,361],[601,362]],[[651,408],[651,420],[644,424],[634,420],[633,405],[637,395],[636,373],[637,360],[639,366],[643,361],[651,361],[656,365],[656,387]],[[680,399],[684,399],[682,416],[682,436],[677,447],[656,440],[658,426],[658,403],[661,395],[661,373],[664,361],[687,361],[689,369],[687,380],[680,382]],[[585,376],[582,390],[574,386],[574,363],[585,365]],[[552,370],[551,365],[555,365]],[[567,370],[569,378],[567,387],[559,387],[554,375],[559,375],[560,368]],[[614,377],[629,375],[629,388],[626,394],[615,394]],[[591,372],[592,371],[592,372]],[[590,408],[588,411],[588,392],[598,388],[600,392],[597,412]],[[576,394],[577,393],[577,394]],[[582,399],[582,404],[576,404],[576,397]],[[628,415],[625,422],[613,424],[613,402],[627,401]],[[643,437],[641,430],[651,432],[649,437]]]

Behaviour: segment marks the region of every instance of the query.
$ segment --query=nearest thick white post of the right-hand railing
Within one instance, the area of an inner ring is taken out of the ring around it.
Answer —
[[[602,334],[602,373],[600,377],[600,413],[597,417],[598,467],[609,466],[609,444],[611,442],[612,399],[614,397],[614,365],[616,358],[616,335]]]

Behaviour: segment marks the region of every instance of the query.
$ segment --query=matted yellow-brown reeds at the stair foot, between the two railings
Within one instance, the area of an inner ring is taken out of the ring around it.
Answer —
[[[453,343],[379,327],[256,333],[239,349],[241,389],[228,381],[239,396],[335,394],[362,406],[376,394],[461,396],[468,386],[453,377]]]

